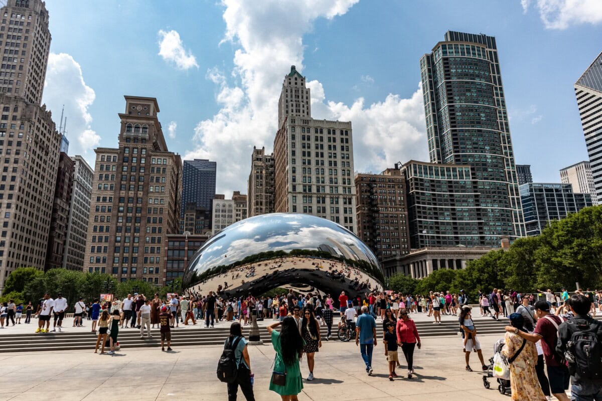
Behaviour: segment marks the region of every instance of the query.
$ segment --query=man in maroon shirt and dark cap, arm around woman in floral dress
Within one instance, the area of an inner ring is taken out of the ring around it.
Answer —
[[[556,354],[558,327],[563,322],[563,319],[550,313],[550,305],[546,301],[535,302],[533,309],[537,317],[537,324],[535,325],[533,334],[520,330],[515,332],[515,328],[512,326],[506,326],[506,331],[515,332],[521,338],[532,343],[541,340],[548,379],[550,379],[551,392],[560,401],[569,401],[565,393],[565,390],[568,390],[569,386],[569,371],[566,365],[562,363],[561,356]]]

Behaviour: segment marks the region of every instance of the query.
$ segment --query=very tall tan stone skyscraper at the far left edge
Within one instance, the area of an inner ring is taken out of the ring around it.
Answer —
[[[8,0],[0,13],[2,290],[14,269],[44,268],[61,136],[51,112],[40,105],[51,41],[45,4]]]

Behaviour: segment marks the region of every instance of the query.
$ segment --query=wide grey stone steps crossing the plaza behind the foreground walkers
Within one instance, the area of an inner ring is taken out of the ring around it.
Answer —
[[[445,317],[444,317],[445,319]],[[597,317],[602,320],[602,317]],[[337,320],[335,319],[335,322]],[[268,321],[269,322],[269,321]],[[89,324],[89,323],[88,323]],[[506,319],[499,322],[493,319],[475,320],[476,328],[479,334],[499,334],[504,335],[504,326],[508,324]],[[380,319],[376,321],[377,333],[382,328]],[[416,322],[418,334],[420,337],[434,337],[438,335],[458,335],[458,323],[455,320],[443,320],[440,325],[432,322]],[[35,326],[32,325],[35,329]],[[322,334],[325,333],[325,327],[322,326]],[[158,329],[151,330],[153,338],[140,339],[138,329],[120,329],[119,344],[123,349],[140,347],[158,347],[161,344],[161,334]],[[270,336],[264,327],[259,328],[261,340],[267,343]],[[204,328],[199,326],[185,329],[172,329],[172,347],[179,346],[203,346],[203,345],[221,345],[229,335],[229,328]],[[243,335],[249,338],[249,329],[243,329]],[[323,336],[324,338],[324,336]],[[332,337],[330,340],[337,340],[337,325],[332,327]],[[0,352],[38,352],[52,350],[92,350],[96,344],[96,334],[92,332],[57,332],[57,333],[31,333],[31,334],[8,334],[0,335]]]

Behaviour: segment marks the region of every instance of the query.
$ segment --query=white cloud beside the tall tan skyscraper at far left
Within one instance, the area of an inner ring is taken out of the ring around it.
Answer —
[[[69,155],[82,155],[94,165],[101,137],[92,129],[92,115],[88,108],[94,102],[94,90],[85,84],[81,67],[69,54],[51,53],[44,84],[42,102],[52,111],[52,119],[60,125],[61,108],[65,106]]]

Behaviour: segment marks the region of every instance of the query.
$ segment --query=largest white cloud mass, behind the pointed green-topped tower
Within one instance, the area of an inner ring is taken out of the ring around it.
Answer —
[[[206,79],[217,85],[216,100],[221,108],[213,118],[197,124],[196,148],[185,155],[185,159],[217,161],[217,192],[246,192],[253,145],[272,151],[282,81],[291,65],[303,70],[303,35],[311,31],[315,20],[341,16],[358,1],[307,0],[296,3],[291,12],[290,5],[280,0],[265,0],[261,6],[244,0],[222,0],[226,22],[223,41],[238,46],[235,67],[232,72],[214,68],[206,73]],[[370,79],[363,77],[364,82]],[[420,88],[410,99],[389,94],[372,105],[362,98],[344,105],[327,102],[320,82],[308,82],[308,87],[312,117],[352,121],[356,170],[380,171],[400,160],[426,157]]]

